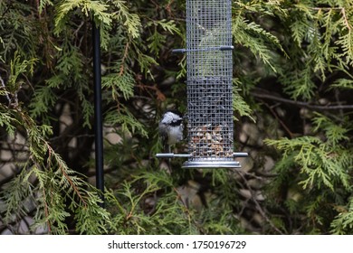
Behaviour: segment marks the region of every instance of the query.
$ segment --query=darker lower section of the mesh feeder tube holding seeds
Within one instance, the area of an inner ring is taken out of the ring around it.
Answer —
[[[208,77],[188,81],[189,152],[193,157],[232,157],[232,84]]]

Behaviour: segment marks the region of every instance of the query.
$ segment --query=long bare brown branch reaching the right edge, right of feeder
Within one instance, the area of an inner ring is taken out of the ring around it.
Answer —
[[[310,104],[309,102],[296,101],[288,98],[281,98],[276,95],[271,95],[268,93],[261,92],[262,90],[253,91],[251,94],[255,98],[271,99],[274,101],[282,102],[285,104],[293,105],[299,108],[308,108],[312,110],[325,111],[325,110],[340,110],[340,109],[353,109],[353,105],[338,105],[338,106],[320,106],[315,104]]]

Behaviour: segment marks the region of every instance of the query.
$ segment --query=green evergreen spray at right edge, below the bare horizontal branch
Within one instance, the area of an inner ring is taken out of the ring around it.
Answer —
[[[313,133],[317,136],[267,140],[266,143],[275,145],[283,152],[281,162],[276,166],[279,178],[275,180],[277,186],[274,188],[281,187],[283,183],[291,180],[291,176],[295,176],[296,193],[292,194],[298,196],[312,194],[312,197],[301,199],[300,202],[298,197],[294,198],[296,201],[290,199],[286,202],[291,204],[288,208],[291,212],[306,211],[309,217],[315,215],[318,225],[323,225],[323,220],[328,218],[325,218],[326,214],[321,216],[321,213],[318,213],[322,212],[320,208],[329,205],[331,201],[333,206],[340,205],[342,201],[339,200],[342,197],[340,194],[343,192],[350,194],[352,191],[350,175],[353,167],[350,155],[352,146],[347,145],[349,127],[338,126],[333,120],[320,114],[312,118],[312,123]],[[316,196],[315,192],[321,194]],[[349,219],[349,215],[339,214],[335,219],[330,215],[329,219],[332,221],[331,231],[335,233],[343,233],[346,229],[348,231],[345,222]]]

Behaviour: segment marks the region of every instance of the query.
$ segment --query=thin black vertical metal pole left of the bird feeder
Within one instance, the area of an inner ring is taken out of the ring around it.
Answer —
[[[93,85],[94,85],[94,130],[96,156],[96,187],[101,191],[100,206],[104,207],[104,170],[103,170],[103,119],[101,115],[101,76],[100,76],[100,27],[92,17],[93,41]]]

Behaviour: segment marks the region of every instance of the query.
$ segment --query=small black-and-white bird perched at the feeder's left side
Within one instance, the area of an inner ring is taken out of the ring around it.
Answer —
[[[158,125],[164,151],[170,153],[170,145],[183,140],[183,116],[175,110],[168,110],[162,116]]]

